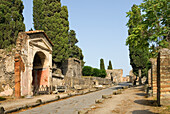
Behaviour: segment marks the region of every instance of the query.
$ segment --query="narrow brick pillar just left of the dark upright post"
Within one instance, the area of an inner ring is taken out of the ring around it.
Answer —
[[[153,96],[157,95],[157,58],[150,59],[152,63],[151,68],[151,77],[152,77],[152,89],[153,89]]]

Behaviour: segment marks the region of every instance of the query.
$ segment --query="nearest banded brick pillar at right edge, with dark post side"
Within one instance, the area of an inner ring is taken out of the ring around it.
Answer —
[[[170,50],[161,49],[158,54],[157,102],[158,105],[170,105]]]

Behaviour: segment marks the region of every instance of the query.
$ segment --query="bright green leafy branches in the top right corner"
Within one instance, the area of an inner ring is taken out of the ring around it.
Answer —
[[[152,45],[156,45],[156,48],[155,46],[151,48],[154,52],[168,46],[170,4],[168,0],[143,1],[144,3],[140,5],[142,12],[144,12],[143,23],[146,26],[148,41]]]

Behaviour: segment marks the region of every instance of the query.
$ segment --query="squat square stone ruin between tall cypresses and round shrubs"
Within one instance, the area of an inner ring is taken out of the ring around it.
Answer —
[[[81,77],[82,66],[81,61],[76,58],[69,58],[62,64],[63,75],[68,77]]]

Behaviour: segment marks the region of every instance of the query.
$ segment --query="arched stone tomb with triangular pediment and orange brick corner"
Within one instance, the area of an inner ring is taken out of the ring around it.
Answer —
[[[20,32],[16,41],[15,96],[33,95],[51,86],[52,42],[44,31]]]

